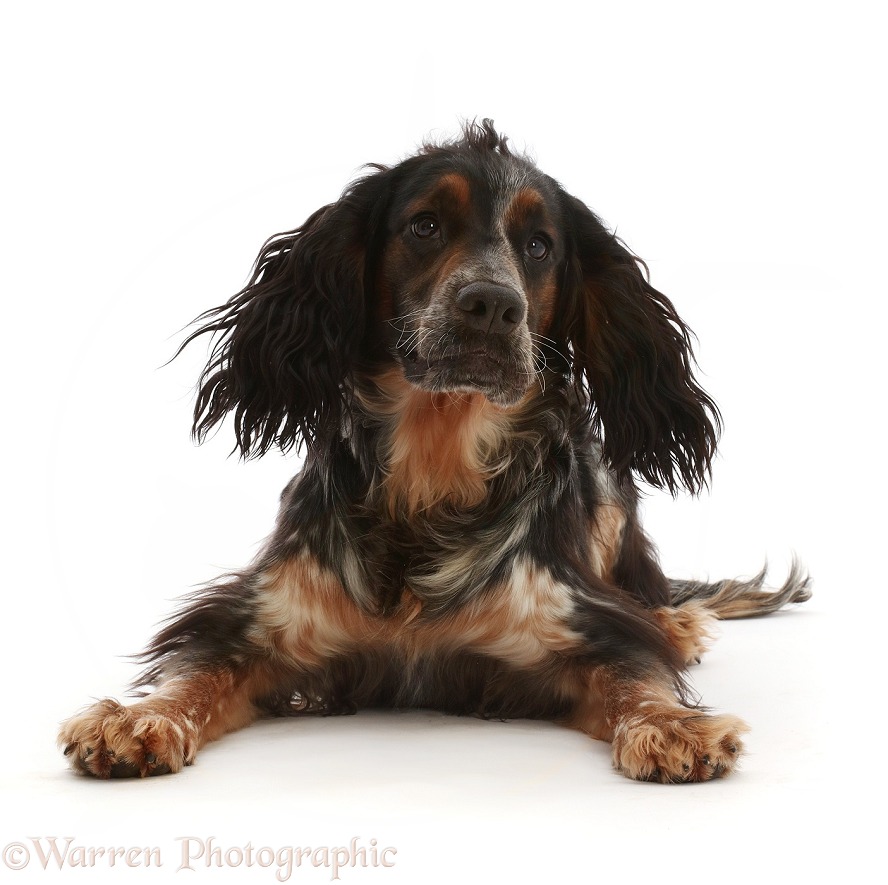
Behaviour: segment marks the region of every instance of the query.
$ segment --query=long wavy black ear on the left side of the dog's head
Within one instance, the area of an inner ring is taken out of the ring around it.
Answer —
[[[387,172],[360,179],[302,227],[271,237],[247,285],[197,318],[186,338],[214,345],[198,382],[199,441],[234,412],[244,457],[338,431],[360,359],[372,298],[371,256],[387,202]]]

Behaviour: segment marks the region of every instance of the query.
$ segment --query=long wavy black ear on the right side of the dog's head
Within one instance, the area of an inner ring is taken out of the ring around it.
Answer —
[[[618,473],[634,470],[673,495],[680,485],[699,492],[721,416],[694,379],[691,332],[648,283],[643,262],[582,202],[565,196],[574,241],[562,337],[604,455]]]

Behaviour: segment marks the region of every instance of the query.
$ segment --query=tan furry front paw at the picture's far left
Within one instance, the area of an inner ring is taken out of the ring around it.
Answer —
[[[162,714],[104,700],[71,717],[59,745],[75,771],[95,777],[148,777],[194,761],[192,729]]]

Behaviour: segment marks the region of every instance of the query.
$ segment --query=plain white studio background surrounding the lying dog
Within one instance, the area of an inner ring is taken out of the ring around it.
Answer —
[[[398,849],[343,881],[873,881],[884,783],[884,85],[875,4],[6,4],[3,845]],[[726,431],[711,493],[654,493],[674,574],[775,578],[694,681],[753,726],[724,782],[634,784],[546,723],[260,723],[183,775],[77,778],[60,720],[122,695],[172,600],[246,563],[296,462],[189,437],[179,330],[363,163],[490,116],[650,265]],[[29,843],[28,843],[29,844]],[[236,860],[236,855],[231,856]],[[55,875],[36,860],[6,881]],[[60,881],[81,881],[68,869]],[[87,874],[89,875],[89,874]],[[191,877],[189,879],[188,877]],[[293,881],[328,881],[300,869]]]

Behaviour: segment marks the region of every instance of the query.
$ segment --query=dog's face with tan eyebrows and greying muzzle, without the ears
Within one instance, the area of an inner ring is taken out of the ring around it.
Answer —
[[[550,180],[496,159],[430,160],[399,182],[378,304],[408,381],[511,405],[545,364],[565,249]]]

